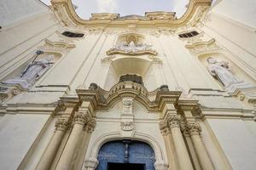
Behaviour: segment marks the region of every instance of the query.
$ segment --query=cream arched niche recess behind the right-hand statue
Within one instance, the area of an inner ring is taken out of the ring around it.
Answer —
[[[235,62],[233,62],[233,60],[230,59],[230,57],[227,54],[221,53],[221,52],[212,52],[212,53],[205,53],[205,54],[200,54],[198,56],[198,59],[201,61],[201,64],[204,65],[204,67],[207,69],[208,67],[208,62],[207,62],[207,58],[212,57],[214,59],[217,59],[217,61],[227,61],[229,63],[230,66],[230,71],[232,72],[232,74],[239,80],[239,81],[243,81],[243,82],[249,82],[249,83],[255,83],[253,81],[253,78],[250,77],[246,71],[243,71],[241,69],[241,67],[239,67],[238,65],[236,65]],[[209,73],[210,74],[210,73]],[[223,84],[218,82],[222,87]]]

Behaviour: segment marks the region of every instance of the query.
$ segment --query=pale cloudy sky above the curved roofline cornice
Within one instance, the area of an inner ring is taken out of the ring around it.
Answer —
[[[50,4],[50,0],[41,1]],[[73,0],[72,2],[79,7],[76,12],[82,19],[89,19],[92,13],[144,16],[145,12],[150,11],[176,12],[177,18],[180,18],[186,11],[189,0]]]

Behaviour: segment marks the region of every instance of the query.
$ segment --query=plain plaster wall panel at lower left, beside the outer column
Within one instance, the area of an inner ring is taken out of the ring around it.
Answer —
[[[1,169],[17,169],[49,115],[5,115],[0,119]]]

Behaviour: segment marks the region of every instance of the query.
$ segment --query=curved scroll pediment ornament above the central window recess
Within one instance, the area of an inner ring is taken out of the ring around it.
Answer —
[[[131,41],[123,42],[121,44],[115,45],[113,48],[107,51],[108,55],[113,54],[127,54],[127,55],[142,55],[142,54],[152,54],[156,55],[157,52],[151,49],[152,45],[146,43],[135,43]]]

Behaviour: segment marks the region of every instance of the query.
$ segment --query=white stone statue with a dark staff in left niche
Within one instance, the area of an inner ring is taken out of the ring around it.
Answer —
[[[49,70],[51,65],[54,64],[54,58],[55,55],[50,54],[44,59],[34,60],[26,66],[26,69],[22,71],[20,77],[9,79],[3,83],[20,84],[22,88],[31,88],[38,78],[42,77],[44,73]]]

